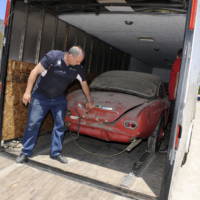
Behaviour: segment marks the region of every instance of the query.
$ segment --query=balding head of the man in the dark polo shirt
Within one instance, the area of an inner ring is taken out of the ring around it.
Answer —
[[[68,65],[80,65],[84,56],[84,51],[81,47],[73,46],[65,54],[64,60]]]

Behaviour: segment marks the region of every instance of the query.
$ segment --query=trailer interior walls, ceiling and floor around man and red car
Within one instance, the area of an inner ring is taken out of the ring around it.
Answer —
[[[90,82],[109,70],[156,74],[168,83],[176,53],[183,48],[187,0],[16,0],[6,76],[3,135],[5,151],[20,152],[27,118],[21,102],[27,77],[51,49],[83,47]],[[69,91],[77,89],[74,84]],[[69,164],[49,158],[52,118],[41,127],[33,165],[132,199],[157,199],[165,183],[167,153],[145,154],[144,141],[132,151],[127,144],[65,135]],[[170,130],[166,130],[170,132]]]

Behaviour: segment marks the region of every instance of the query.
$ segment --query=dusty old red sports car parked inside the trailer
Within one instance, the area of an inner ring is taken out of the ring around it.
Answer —
[[[160,137],[169,102],[159,77],[135,71],[108,71],[90,84],[95,107],[85,108],[81,90],[68,95],[66,123],[71,131],[106,141],[130,143],[153,133]]]

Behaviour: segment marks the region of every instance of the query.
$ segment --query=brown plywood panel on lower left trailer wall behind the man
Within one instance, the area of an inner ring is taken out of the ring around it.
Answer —
[[[3,140],[10,140],[23,136],[27,121],[27,107],[22,104],[22,96],[26,88],[30,71],[35,64],[9,60],[4,118],[3,118]],[[41,133],[52,129],[53,120],[49,114],[41,127]]]

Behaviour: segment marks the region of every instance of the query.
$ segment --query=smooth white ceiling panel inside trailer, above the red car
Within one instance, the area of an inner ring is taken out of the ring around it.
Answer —
[[[182,47],[184,14],[67,14],[62,20],[100,38],[153,67],[170,67]],[[125,21],[132,21],[126,25]],[[154,42],[139,41],[152,37]],[[156,50],[154,50],[156,49]]]

